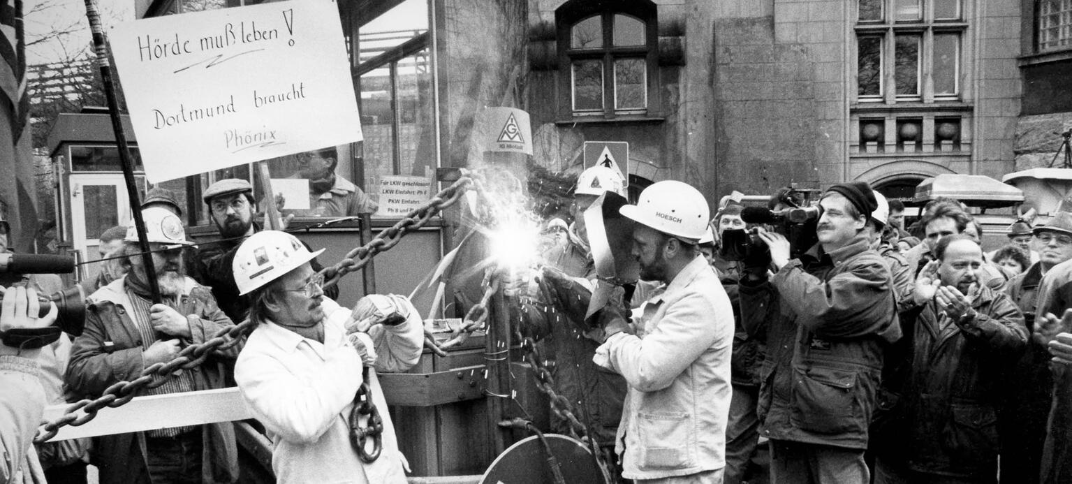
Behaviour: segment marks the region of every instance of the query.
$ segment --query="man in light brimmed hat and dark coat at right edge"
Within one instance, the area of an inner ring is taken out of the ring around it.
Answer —
[[[1006,287],[1006,292],[1024,311],[1032,338],[1006,379],[1007,400],[999,415],[1002,484],[1039,482],[1053,388],[1046,342],[1060,324],[1054,324],[1059,323],[1056,319],[1036,320],[1036,313],[1062,314],[1072,307],[1072,262],[1068,262],[1072,260],[1072,214],[1058,211],[1032,233],[1039,262],[1010,279]]]

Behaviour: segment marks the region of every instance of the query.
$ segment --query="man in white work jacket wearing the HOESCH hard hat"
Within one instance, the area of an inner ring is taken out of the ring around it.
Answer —
[[[607,339],[594,360],[629,384],[616,439],[622,475],[637,483],[718,484],[732,394],[733,310],[697,249],[708,202],[691,186],[667,180],[621,212],[637,222],[632,255],[640,278],[662,283],[631,325],[610,316],[621,308],[601,317]]]

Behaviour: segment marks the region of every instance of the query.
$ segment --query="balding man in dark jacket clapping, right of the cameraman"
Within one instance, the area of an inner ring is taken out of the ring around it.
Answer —
[[[1027,341],[1016,305],[982,283],[983,252],[942,237],[902,314],[912,347],[897,431],[878,449],[876,484],[997,482],[1001,370]]]

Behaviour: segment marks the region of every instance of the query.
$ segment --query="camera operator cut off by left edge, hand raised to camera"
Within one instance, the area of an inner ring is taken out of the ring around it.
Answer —
[[[56,307],[44,317],[40,309],[33,288],[9,288],[0,305],[0,333],[51,326]],[[0,484],[45,480],[32,443],[45,409],[40,353],[40,348],[0,344]]]

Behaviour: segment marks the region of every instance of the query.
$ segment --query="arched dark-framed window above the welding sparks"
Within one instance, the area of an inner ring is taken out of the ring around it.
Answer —
[[[646,115],[657,65],[655,4],[572,0],[555,11],[567,116]]]

